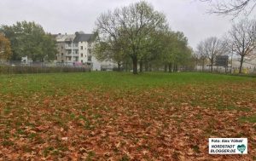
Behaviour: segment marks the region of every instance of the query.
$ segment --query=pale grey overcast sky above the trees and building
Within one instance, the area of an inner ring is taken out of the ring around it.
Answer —
[[[46,32],[90,33],[99,14],[135,2],[138,0],[0,0],[0,25],[33,20]],[[166,14],[172,30],[184,32],[193,48],[206,37],[221,37],[231,26],[230,17],[207,14],[207,3],[196,0],[148,2]]]

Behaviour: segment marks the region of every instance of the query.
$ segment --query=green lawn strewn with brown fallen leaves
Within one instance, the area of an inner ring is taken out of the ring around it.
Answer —
[[[256,160],[256,78],[88,72],[0,76],[0,160]],[[248,138],[209,155],[209,137]]]

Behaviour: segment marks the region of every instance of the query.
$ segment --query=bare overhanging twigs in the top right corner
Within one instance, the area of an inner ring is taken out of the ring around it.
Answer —
[[[234,17],[239,14],[248,15],[256,6],[255,0],[200,0],[211,3],[213,14],[230,14]]]

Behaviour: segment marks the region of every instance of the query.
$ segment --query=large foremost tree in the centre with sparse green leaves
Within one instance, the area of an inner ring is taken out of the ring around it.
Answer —
[[[166,26],[166,17],[146,3],[115,9],[113,12],[101,14],[96,21],[98,40],[119,47],[133,61],[133,73],[137,74],[137,62],[143,57],[141,52],[151,32]]]

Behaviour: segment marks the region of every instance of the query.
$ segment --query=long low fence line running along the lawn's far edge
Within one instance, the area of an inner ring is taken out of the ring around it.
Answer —
[[[113,66],[102,65],[102,71],[130,71],[125,68],[117,69]],[[90,72],[92,70],[92,64],[83,64],[79,62],[74,63],[60,63],[60,62],[22,62],[20,60],[0,60],[0,74],[26,74],[26,73],[50,73],[50,72]],[[145,70],[143,70],[145,71]],[[150,71],[164,71],[163,68],[150,68]],[[211,72],[211,66],[195,66],[191,68],[179,67],[177,72]],[[212,72],[218,73],[232,73],[237,74],[239,72],[239,67],[221,67],[213,66]],[[251,64],[245,64],[242,67],[241,72],[243,74],[256,74],[256,66]]]

